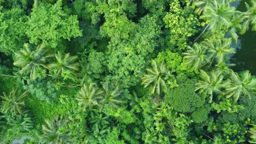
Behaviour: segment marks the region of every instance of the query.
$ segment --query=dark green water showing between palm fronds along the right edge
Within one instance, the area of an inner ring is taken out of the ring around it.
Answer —
[[[234,3],[237,5],[237,10],[246,11],[245,2]],[[243,35],[239,35],[238,43],[233,44],[232,47],[236,48],[236,53],[230,59],[231,63],[236,66],[232,67],[234,71],[249,70],[252,74],[256,75],[256,32],[250,29]]]

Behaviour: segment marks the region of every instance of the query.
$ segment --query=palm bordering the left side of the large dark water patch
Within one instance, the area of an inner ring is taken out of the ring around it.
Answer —
[[[202,41],[202,44],[208,48],[208,52],[210,53],[209,60],[211,61],[210,65],[213,61],[217,64],[226,62],[226,55],[235,53],[235,49],[230,47],[231,39],[223,39],[218,40],[214,45],[211,40],[205,39]]]

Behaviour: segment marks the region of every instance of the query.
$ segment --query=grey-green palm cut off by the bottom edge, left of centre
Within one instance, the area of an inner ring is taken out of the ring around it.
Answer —
[[[71,138],[67,134],[67,130],[63,128],[67,120],[54,116],[51,121],[49,119],[45,120],[45,124],[42,125],[43,134],[39,139],[44,143],[69,143]]]

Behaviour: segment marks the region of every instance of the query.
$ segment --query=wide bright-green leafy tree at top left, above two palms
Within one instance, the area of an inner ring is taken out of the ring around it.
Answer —
[[[82,36],[77,16],[66,14],[61,5],[61,0],[54,5],[42,2],[32,9],[31,17],[26,23],[30,27],[26,31],[30,43],[38,44],[43,41],[57,51],[57,45],[61,40]],[[46,20],[45,17],[47,17]]]

